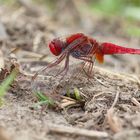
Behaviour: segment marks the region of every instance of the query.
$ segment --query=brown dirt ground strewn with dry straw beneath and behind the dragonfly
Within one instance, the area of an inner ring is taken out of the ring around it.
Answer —
[[[73,58],[63,79],[53,76],[61,65],[41,73],[35,84],[31,76],[56,59],[47,48],[54,37],[83,32],[98,41],[135,48],[140,40],[123,32],[119,18],[83,14],[76,5],[71,13],[58,6],[51,15],[43,6],[36,6],[0,6],[1,67],[4,63],[8,69],[16,61],[21,69],[0,108],[0,140],[138,140],[138,55],[106,56],[103,65],[95,64],[90,79],[80,69],[82,62]],[[75,88],[82,101],[64,96]],[[49,94],[56,106],[33,108],[37,102],[33,92],[38,89]]]

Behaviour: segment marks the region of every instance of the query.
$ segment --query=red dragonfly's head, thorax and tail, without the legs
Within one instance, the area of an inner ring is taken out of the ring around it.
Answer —
[[[75,58],[95,55],[99,62],[103,62],[104,55],[109,54],[140,54],[140,49],[126,48],[107,42],[100,43],[83,33],[73,34],[65,41],[54,39],[50,42],[49,47],[56,56],[68,50],[68,53]]]

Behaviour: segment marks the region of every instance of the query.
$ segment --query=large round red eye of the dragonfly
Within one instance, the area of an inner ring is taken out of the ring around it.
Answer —
[[[50,51],[56,56],[61,54],[63,46],[64,46],[63,41],[59,39],[54,39],[49,43]]]

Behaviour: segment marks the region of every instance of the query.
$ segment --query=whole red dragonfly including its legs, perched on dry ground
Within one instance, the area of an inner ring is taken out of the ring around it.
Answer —
[[[89,64],[87,74],[90,76],[94,60],[97,59],[98,62],[103,63],[104,55],[140,54],[140,49],[126,48],[109,42],[98,42],[83,33],[72,34],[66,37],[65,40],[55,38],[49,43],[49,48],[52,54],[59,57],[38,73],[58,65],[65,59],[64,68],[59,74],[63,71],[65,71],[66,74],[69,69],[69,56],[71,55],[76,59],[83,60],[85,62],[84,65]],[[36,73],[34,77],[36,77],[38,73]]]

